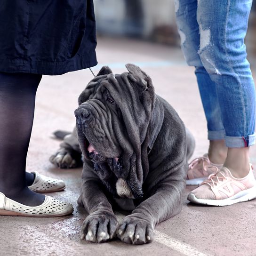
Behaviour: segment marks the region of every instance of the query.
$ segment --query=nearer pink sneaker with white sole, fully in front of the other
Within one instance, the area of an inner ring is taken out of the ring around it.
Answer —
[[[256,198],[256,180],[253,168],[247,176],[238,179],[230,170],[222,167],[217,173],[211,174],[200,186],[188,194],[193,203],[225,206]]]

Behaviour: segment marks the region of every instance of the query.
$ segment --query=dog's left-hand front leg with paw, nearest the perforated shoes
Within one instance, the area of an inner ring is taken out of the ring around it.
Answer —
[[[111,240],[118,222],[98,180],[83,180],[78,203],[89,213],[81,227],[81,239],[97,243]]]

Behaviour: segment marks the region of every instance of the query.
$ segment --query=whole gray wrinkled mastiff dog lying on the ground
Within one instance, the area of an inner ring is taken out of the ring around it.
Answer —
[[[82,239],[104,242],[115,234],[144,244],[154,227],[182,208],[187,160],[194,139],[175,110],[155,95],[139,67],[114,75],[103,67],[79,97],[76,133],[51,157],[61,167],[84,158],[78,204],[89,213]],[[118,225],[113,208],[132,211]]]

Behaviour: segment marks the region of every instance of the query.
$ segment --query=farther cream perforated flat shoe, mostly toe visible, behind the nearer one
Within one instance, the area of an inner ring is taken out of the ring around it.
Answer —
[[[38,172],[32,172],[35,175],[34,182],[28,188],[34,192],[46,193],[63,191],[66,185],[63,180],[53,179]]]

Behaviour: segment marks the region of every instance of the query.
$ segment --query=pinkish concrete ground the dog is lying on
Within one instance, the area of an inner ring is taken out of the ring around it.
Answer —
[[[175,107],[194,134],[197,145],[193,157],[207,151],[206,121],[193,68],[186,66],[178,48],[98,38],[97,56],[99,64],[93,68],[95,72],[104,64],[109,64],[115,73],[125,71],[126,63],[139,64],[152,77],[156,92]],[[151,244],[133,246],[118,240],[104,244],[80,241],[80,226],[86,216],[76,203],[81,169],[54,168],[48,158],[59,145],[52,132],[72,130],[77,98],[90,79],[92,74],[88,70],[43,76],[27,159],[28,171],[64,179],[65,191],[50,195],[72,202],[73,215],[41,219],[0,216],[0,256],[255,256],[256,200],[229,207],[192,205],[186,196],[194,186],[186,188],[182,212],[157,226]],[[256,147],[251,148],[251,162],[256,164]],[[117,215],[122,218],[120,213]]]

